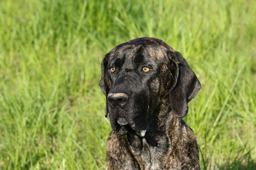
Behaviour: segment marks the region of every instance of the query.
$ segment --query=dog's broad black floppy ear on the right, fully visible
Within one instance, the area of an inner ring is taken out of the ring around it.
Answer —
[[[173,113],[183,118],[189,111],[188,102],[199,92],[201,84],[179,52],[168,51],[168,56],[169,68],[174,78],[169,92],[170,105]]]

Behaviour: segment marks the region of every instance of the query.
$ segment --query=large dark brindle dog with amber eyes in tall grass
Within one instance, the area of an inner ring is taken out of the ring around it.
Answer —
[[[193,130],[182,120],[201,88],[182,55],[136,38],[103,57],[100,88],[112,127],[107,170],[200,170]]]

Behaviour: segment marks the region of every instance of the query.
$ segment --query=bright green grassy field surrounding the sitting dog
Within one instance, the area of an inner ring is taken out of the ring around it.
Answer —
[[[202,84],[184,118],[201,168],[255,170],[255,0],[1,0],[0,170],[103,170],[101,60],[138,37]]]

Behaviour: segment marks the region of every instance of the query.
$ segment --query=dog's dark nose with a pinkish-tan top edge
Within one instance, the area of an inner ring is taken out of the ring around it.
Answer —
[[[129,96],[125,93],[109,93],[107,100],[112,106],[123,106],[127,103]]]

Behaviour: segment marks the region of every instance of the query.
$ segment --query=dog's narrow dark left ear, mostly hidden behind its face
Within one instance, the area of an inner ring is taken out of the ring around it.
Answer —
[[[100,80],[100,88],[101,91],[103,92],[103,94],[105,94],[106,96],[106,112],[105,112],[105,117],[108,116],[108,102],[107,102],[107,97],[108,97],[108,92],[109,92],[109,87],[108,87],[108,76],[107,76],[107,72],[108,72],[108,58],[109,58],[109,53],[106,54],[103,57],[103,60],[101,62],[101,80]]]

